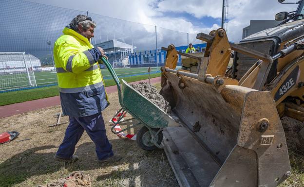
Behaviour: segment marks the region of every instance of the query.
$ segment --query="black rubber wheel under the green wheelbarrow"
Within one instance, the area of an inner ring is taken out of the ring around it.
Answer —
[[[152,131],[153,134],[156,134],[159,131],[159,129],[152,128]],[[157,142],[158,145],[160,145],[162,140],[163,140],[163,132],[160,131],[157,134],[157,136],[155,136],[155,141]],[[152,142],[152,137],[149,132],[149,129],[145,126],[143,126],[136,134],[136,142],[141,149],[146,151],[152,151],[157,148]]]

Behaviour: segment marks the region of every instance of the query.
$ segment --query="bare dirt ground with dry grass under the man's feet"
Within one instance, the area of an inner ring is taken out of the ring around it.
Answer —
[[[111,104],[102,115],[114,153],[124,156],[121,161],[98,164],[95,145],[86,133],[76,146],[75,154],[79,156],[76,163],[65,165],[54,161],[67,124],[48,127],[56,123],[53,115],[60,111],[60,107],[44,108],[1,119],[1,132],[14,130],[20,135],[12,142],[0,144],[0,187],[37,187],[76,170],[89,174],[93,187],[178,187],[162,150],[147,152],[141,150],[136,141],[120,139],[111,133],[107,121],[120,105],[116,93],[109,94],[109,100]],[[67,120],[67,117],[61,119]],[[26,138],[30,140],[18,141]]]

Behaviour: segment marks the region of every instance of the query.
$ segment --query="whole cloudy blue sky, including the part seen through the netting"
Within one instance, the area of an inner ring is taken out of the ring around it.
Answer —
[[[30,1],[30,2],[29,2]],[[251,19],[274,19],[296,4],[277,0],[229,0],[228,39],[239,42]],[[297,0],[286,0],[287,2]],[[221,26],[222,0],[0,0],[0,51],[50,51],[77,14],[97,24],[92,44],[118,40],[136,50],[200,43],[198,33]],[[114,18],[113,18],[114,17]],[[125,21],[127,20],[127,21]],[[138,24],[141,23],[141,24]],[[155,25],[157,34],[155,34]],[[166,29],[164,29],[166,28]],[[155,37],[157,35],[157,37]],[[155,42],[157,38],[157,44]],[[49,42],[50,41],[50,42]],[[48,45],[48,42],[51,45]],[[40,54],[39,54],[40,55]],[[43,54],[41,53],[41,56]]]

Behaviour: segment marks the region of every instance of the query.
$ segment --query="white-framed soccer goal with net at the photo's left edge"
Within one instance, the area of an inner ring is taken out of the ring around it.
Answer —
[[[0,92],[37,86],[31,58],[25,52],[0,52]]]

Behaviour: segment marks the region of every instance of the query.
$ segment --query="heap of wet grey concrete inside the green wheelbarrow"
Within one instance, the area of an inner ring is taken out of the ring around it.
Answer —
[[[151,102],[156,104],[163,111],[167,112],[169,102],[167,102],[164,97],[158,93],[154,85],[149,85],[148,83],[139,83],[136,85],[131,84],[131,86]]]

